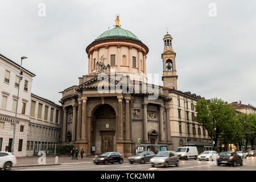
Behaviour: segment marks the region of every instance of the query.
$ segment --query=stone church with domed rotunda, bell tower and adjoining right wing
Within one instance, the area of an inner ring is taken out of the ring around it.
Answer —
[[[193,119],[200,96],[177,90],[172,36],[167,32],[163,41],[164,86],[151,85],[146,75],[148,47],[121,28],[117,16],[115,27],[86,47],[88,75],[61,92],[61,142],[75,143],[86,155],[117,151],[125,157],[135,153],[137,139],[167,150],[189,142],[210,145]]]

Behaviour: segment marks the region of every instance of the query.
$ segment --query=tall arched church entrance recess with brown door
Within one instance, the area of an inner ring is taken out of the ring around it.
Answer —
[[[100,105],[92,113],[92,146],[95,154],[116,151],[116,114],[112,106]]]

